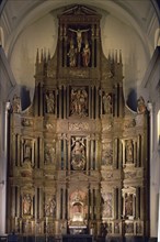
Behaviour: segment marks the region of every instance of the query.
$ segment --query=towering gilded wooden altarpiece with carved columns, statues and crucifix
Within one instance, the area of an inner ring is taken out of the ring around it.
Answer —
[[[32,106],[12,102],[8,230],[147,235],[144,99],[125,106],[122,53],[103,55],[98,12],[75,6],[58,20],[56,53],[37,52]]]

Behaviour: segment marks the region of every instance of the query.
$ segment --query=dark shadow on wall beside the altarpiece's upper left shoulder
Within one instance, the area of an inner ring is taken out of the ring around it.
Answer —
[[[21,108],[25,110],[31,105],[30,90],[26,86],[21,87]]]

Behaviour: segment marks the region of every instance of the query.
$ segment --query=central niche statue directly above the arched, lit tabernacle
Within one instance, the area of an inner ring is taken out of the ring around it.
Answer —
[[[84,139],[82,138],[72,138],[71,145],[71,165],[72,169],[84,169],[85,167],[85,145]]]

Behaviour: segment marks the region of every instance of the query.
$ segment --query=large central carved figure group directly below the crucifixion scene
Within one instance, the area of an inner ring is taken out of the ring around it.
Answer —
[[[88,92],[85,89],[71,89],[71,114],[87,117]]]

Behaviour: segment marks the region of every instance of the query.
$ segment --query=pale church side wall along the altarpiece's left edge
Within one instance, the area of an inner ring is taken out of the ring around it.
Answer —
[[[10,99],[15,80],[9,67],[3,48],[0,46],[0,234],[5,233],[5,189],[7,189],[7,156],[5,156],[5,103]]]

